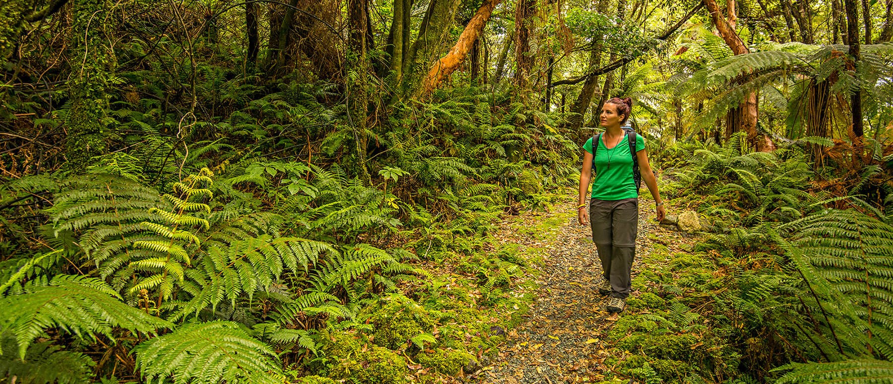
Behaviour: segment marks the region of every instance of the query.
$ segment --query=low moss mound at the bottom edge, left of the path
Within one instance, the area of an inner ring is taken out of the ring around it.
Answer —
[[[341,358],[329,371],[336,379],[369,384],[403,384],[409,382],[409,369],[403,356],[384,347],[368,347],[355,355]]]

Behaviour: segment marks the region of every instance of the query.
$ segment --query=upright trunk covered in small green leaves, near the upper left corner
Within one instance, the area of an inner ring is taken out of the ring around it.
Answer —
[[[105,110],[116,66],[114,51],[104,35],[109,4],[104,0],[76,0],[71,4],[71,107],[66,126],[65,157],[74,171],[105,154]]]

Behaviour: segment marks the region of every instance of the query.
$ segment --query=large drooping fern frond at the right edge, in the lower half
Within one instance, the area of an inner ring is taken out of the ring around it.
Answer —
[[[780,226],[813,306],[840,355],[893,359],[893,227],[853,209]],[[808,295],[808,296],[806,296]]]

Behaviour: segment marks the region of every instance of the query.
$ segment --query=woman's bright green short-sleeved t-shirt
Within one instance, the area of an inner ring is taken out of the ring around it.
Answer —
[[[598,141],[596,180],[592,183],[593,199],[623,200],[638,197],[636,179],[632,176],[630,142],[625,134],[624,132],[620,143],[610,150],[605,148],[604,140]],[[592,137],[583,144],[583,149],[592,153]],[[636,134],[636,151],[644,149],[645,138]]]

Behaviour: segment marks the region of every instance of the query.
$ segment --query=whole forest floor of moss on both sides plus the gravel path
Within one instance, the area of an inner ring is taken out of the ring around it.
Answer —
[[[456,236],[456,247],[424,244],[421,266],[430,279],[403,282],[398,293],[375,298],[354,329],[324,333],[330,347],[321,348],[327,357],[316,372],[423,383],[739,377],[734,330],[714,327],[707,313],[734,262],[700,250],[697,237],[659,228],[649,221],[652,212],[642,212],[633,295],[622,315],[611,316],[592,285],[600,266],[588,227],[575,224],[567,196],[552,199],[559,203],[551,212],[505,217],[484,237]],[[465,372],[466,366],[482,369]]]

